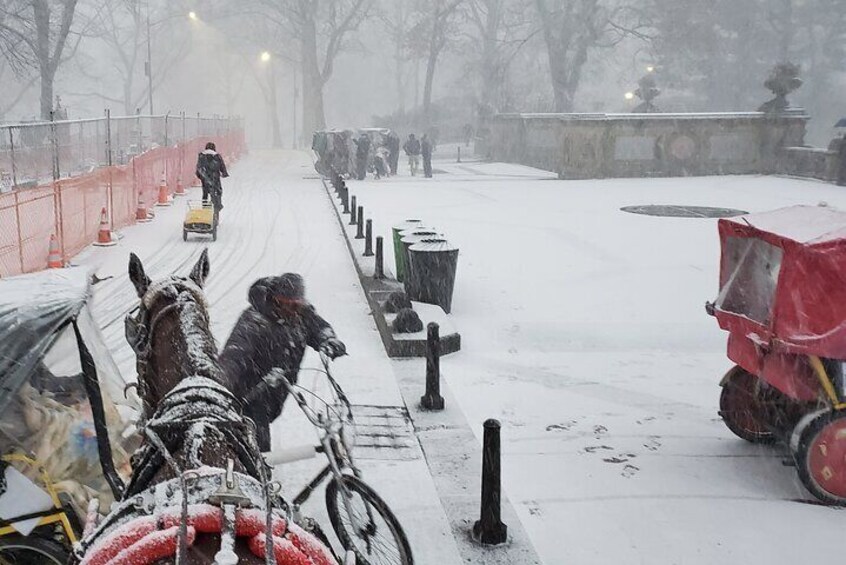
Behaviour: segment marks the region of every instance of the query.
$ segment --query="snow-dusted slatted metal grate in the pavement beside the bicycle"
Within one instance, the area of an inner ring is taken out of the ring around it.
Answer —
[[[417,439],[404,406],[353,404],[357,459],[417,459]]]

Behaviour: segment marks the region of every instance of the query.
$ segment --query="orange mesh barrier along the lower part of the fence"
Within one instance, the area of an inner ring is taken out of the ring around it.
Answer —
[[[59,241],[62,261],[97,240],[100,213],[109,211],[111,229],[135,223],[139,196],[148,207],[158,198],[162,175],[168,193],[176,182],[193,184],[197,154],[214,141],[227,164],[246,150],[244,132],[204,136],[137,155],[126,165],[101,167],[69,179],[0,194],[0,277],[47,267],[50,236]]]

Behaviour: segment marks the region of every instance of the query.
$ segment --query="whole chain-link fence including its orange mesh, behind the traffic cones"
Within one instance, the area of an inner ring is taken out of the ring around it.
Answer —
[[[165,115],[0,127],[0,276],[43,269],[55,236],[63,260],[135,221],[161,186],[190,184],[196,155],[214,141],[228,160],[245,149],[243,122]]]

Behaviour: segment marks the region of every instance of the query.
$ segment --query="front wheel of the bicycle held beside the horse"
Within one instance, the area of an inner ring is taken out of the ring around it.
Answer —
[[[341,545],[355,553],[356,565],[412,565],[411,546],[385,501],[357,477],[344,475],[343,483],[336,478],[326,485],[326,509]],[[344,504],[346,494],[358,531]]]

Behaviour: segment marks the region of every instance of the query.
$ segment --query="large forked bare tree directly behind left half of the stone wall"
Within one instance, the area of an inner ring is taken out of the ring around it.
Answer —
[[[572,112],[585,64],[594,49],[629,36],[646,38],[646,23],[626,0],[535,0],[549,59],[557,112]]]

